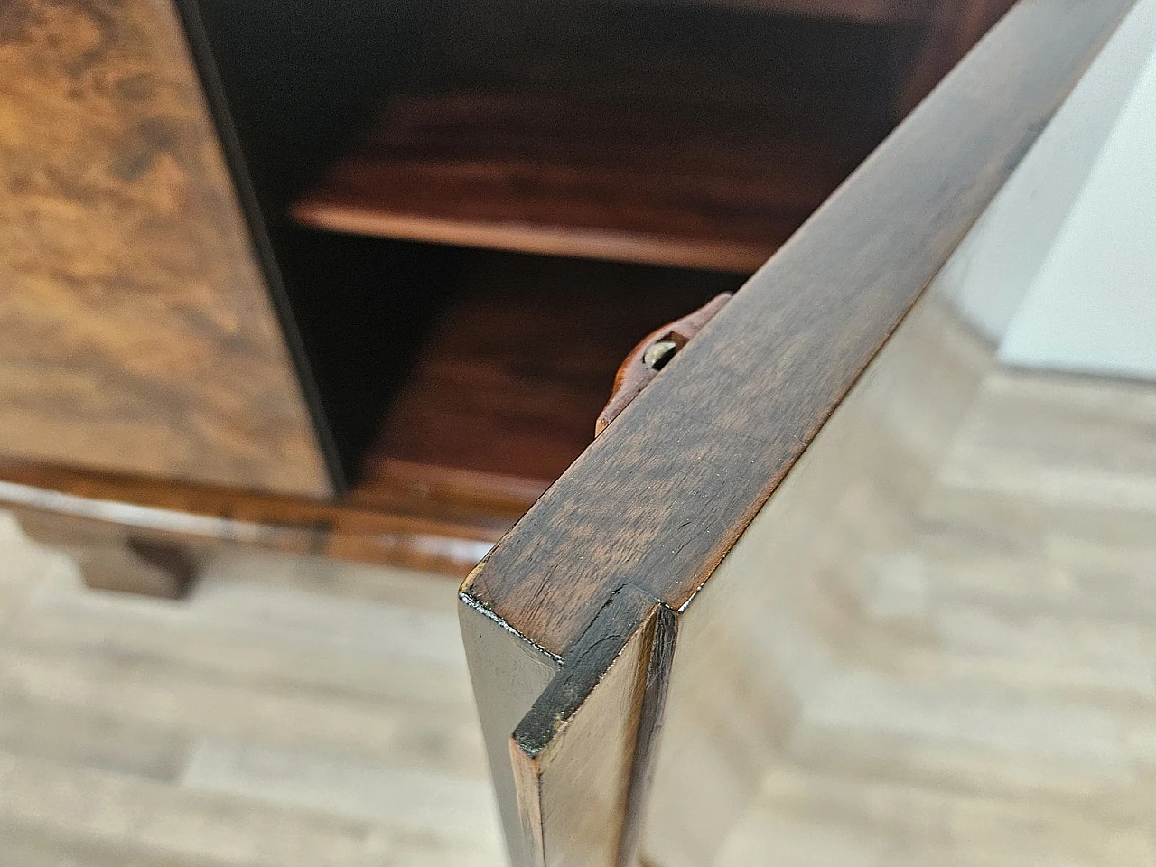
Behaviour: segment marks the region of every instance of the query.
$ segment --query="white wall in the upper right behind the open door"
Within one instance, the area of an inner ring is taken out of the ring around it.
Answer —
[[[1008,271],[992,279],[1028,280],[1027,297],[1014,311],[978,304],[975,318],[994,316],[985,331],[1003,333],[1001,362],[1156,379],[1156,0],[1141,0],[1040,146],[1058,153],[1035,161],[1036,195],[1017,197],[1017,218],[1051,238],[1005,232]]]

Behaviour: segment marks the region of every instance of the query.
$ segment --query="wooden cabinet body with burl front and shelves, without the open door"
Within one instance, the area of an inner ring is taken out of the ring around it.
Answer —
[[[1009,5],[5,3],[0,505],[464,572]]]

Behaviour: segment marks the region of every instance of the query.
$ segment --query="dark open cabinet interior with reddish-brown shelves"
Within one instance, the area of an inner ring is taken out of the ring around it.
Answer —
[[[183,0],[356,502],[525,507],[902,114],[931,3]],[[384,506],[383,506],[384,507]]]

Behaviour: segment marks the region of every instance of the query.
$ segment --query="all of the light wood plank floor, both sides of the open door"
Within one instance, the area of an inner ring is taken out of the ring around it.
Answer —
[[[785,616],[833,660],[718,867],[1156,865],[1156,390],[998,373]],[[445,578],[83,590],[0,516],[0,867],[503,862]]]

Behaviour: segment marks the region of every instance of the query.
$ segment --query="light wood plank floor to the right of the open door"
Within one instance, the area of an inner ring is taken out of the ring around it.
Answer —
[[[775,612],[813,666],[719,866],[1153,867],[1156,387],[995,371],[902,469]]]

